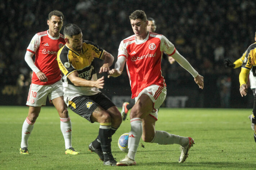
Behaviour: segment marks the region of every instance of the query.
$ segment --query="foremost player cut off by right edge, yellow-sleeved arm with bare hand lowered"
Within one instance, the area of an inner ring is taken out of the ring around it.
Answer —
[[[239,82],[240,82],[240,94],[241,96],[247,95],[247,80],[248,74],[252,70],[252,74],[256,77],[256,43],[251,44],[246,52],[245,58],[242,63],[241,72],[239,74]],[[253,109],[252,109],[252,123],[254,124],[254,140],[256,142],[256,96],[254,96],[253,100]]]

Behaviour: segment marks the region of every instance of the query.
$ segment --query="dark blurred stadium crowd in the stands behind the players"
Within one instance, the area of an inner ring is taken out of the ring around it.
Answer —
[[[4,0],[0,3],[1,92],[6,95],[6,86],[17,86],[13,101],[18,104],[25,105],[31,79],[24,61],[26,48],[34,34],[49,28],[48,14],[55,9],[63,12],[64,25],[77,24],[84,40],[110,52],[115,61],[120,42],[133,34],[129,15],[144,10],[155,19],[156,33],[165,35],[205,77],[205,89],[200,90],[178,63],[170,65],[163,59],[167,95],[195,93],[196,107],[252,108],[252,94],[245,98],[239,94],[241,69],[226,68],[224,59],[234,62],[254,43],[255,0]],[[126,73],[116,79],[105,76],[105,81],[107,95],[131,94]]]

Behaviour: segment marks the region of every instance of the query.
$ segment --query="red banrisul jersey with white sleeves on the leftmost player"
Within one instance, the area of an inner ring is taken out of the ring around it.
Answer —
[[[47,31],[35,34],[27,51],[35,54],[35,65],[43,72],[48,81],[42,82],[35,72],[32,75],[32,83],[38,85],[49,85],[61,79],[61,72],[57,62],[57,53],[66,44],[62,34],[59,37],[51,37]]]

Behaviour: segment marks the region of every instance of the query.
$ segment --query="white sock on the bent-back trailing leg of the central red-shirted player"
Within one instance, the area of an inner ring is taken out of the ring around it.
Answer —
[[[156,131],[156,134],[151,143],[158,143],[159,145],[172,145],[179,144],[181,146],[187,146],[189,139],[187,137],[170,134],[165,131]]]

